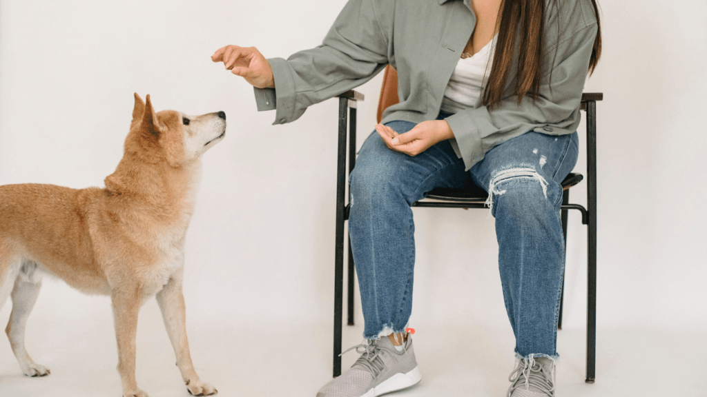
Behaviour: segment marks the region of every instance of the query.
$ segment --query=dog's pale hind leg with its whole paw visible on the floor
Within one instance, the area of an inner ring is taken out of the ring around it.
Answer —
[[[12,313],[5,332],[10,339],[10,345],[20,364],[20,369],[28,377],[45,377],[49,374],[49,369],[34,362],[25,348],[27,319],[37,302],[41,286],[42,278],[37,271],[37,263],[23,261],[15,279],[15,288],[12,290]]]

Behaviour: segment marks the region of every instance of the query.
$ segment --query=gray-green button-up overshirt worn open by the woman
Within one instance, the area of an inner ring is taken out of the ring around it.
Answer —
[[[479,99],[446,119],[467,170],[494,146],[527,131],[562,135],[579,126],[597,19],[590,0],[557,2],[559,9],[547,12],[547,71],[539,98],[523,97],[519,104],[510,80],[493,109]],[[276,109],[274,124],[293,122],[308,106],[366,83],[390,64],[398,72],[400,102],[385,110],[382,122],[436,119],[475,24],[469,0],[350,0],[322,45],[268,59],[275,88],[255,89],[257,108]],[[510,76],[516,67],[517,61]]]

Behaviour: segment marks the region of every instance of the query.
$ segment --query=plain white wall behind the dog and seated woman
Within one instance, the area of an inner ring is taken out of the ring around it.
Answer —
[[[250,85],[209,57],[228,44],[255,45],[266,57],[314,47],[344,4],[0,1],[0,184],[103,186],[122,155],[134,92],[151,94],[157,109],[223,110],[226,138],[204,156],[187,239],[190,327],[322,324],[325,333],[316,337],[328,343],[337,101],[272,126],[274,112],[256,112]],[[707,3],[600,5],[604,52],[585,88],[604,93],[597,106],[598,324],[600,330],[707,336],[707,195],[700,161],[707,145]],[[359,144],[375,124],[380,78],[358,88],[366,95]],[[581,203],[583,189],[572,192]],[[412,326],[510,333],[487,215],[415,210]],[[586,233],[578,214],[571,213],[570,222],[564,322],[583,329]],[[151,302],[141,321],[157,315]],[[66,324],[71,332],[69,325],[90,321],[110,338],[107,298],[89,299],[54,281],[45,283],[30,328],[42,334],[49,325]],[[6,342],[0,348],[9,353]],[[2,354],[0,360],[11,359]]]

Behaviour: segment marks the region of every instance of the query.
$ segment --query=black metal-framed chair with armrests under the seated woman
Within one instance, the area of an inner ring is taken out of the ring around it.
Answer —
[[[597,302],[597,141],[596,141],[596,104],[603,99],[602,93],[582,95],[581,109],[586,113],[587,122],[587,208],[569,203],[569,188],[583,179],[582,174],[571,173],[562,182],[563,196],[561,207],[562,230],[567,239],[567,212],[578,210],[582,214],[582,223],[588,227],[588,286],[587,286],[587,374],[585,381],[595,381],[596,358],[596,302]],[[349,127],[349,172],[356,165],[356,105],[363,100],[363,95],[354,90],[339,95],[339,157],[337,162],[337,231],[336,259],[334,261],[334,377],[341,374],[341,328],[344,297],[344,223],[349,219],[349,203],[346,203],[346,127]],[[347,112],[348,109],[348,112]],[[348,115],[347,115],[348,113]],[[380,112],[379,112],[380,114]],[[380,116],[379,116],[380,117]],[[484,208],[488,194],[479,186],[464,189],[434,189],[426,198],[416,201],[416,207],[442,208]],[[566,244],[566,242],[565,242]],[[348,285],[348,324],[354,325],[354,257],[349,244],[349,285]],[[563,291],[564,295],[564,280]],[[563,297],[560,300],[559,322],[562,328]]]

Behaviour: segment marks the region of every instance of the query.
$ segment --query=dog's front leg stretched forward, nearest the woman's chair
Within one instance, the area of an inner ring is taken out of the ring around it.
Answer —
[[[182,379],[187,384],[187,390],[192,396],[211,396],[218,393],[214,386],[199,379],[199,375],[197,375],[192,364],[192,356],[189,354],[189,340],[187,340],[187,321],[181,274],[170,278],[167,285],[158,292],[156,298],[162,311],[167,333],[170,336],[170,341],[177,356],[177,367],[182,373]]]

